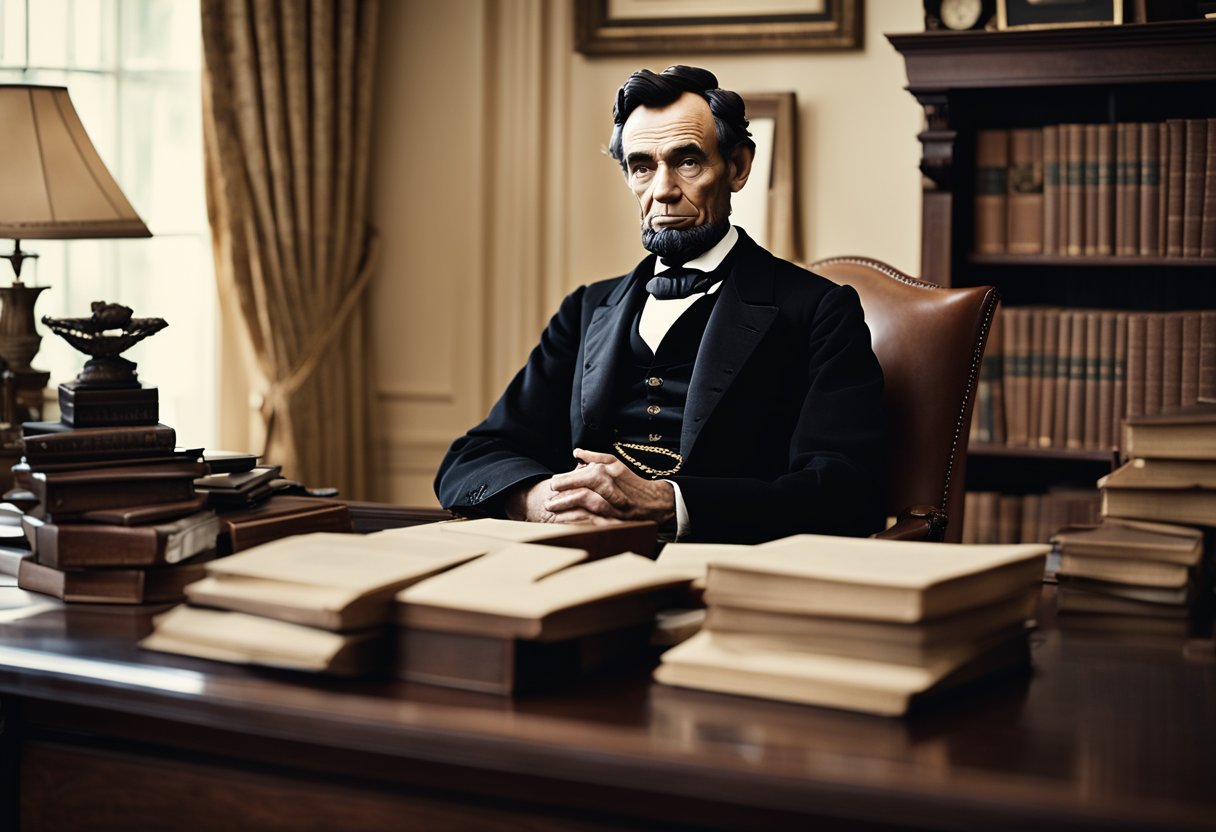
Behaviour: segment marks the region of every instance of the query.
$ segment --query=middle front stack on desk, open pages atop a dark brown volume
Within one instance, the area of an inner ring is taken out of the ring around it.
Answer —
[[[396,675],[507,695],[653,660],[655,614],[682,602],[689,583],[638,553],[653,550],[654,524],[567,529],[471,521],[402,530],[488,533],[497,546],[398,595]]]

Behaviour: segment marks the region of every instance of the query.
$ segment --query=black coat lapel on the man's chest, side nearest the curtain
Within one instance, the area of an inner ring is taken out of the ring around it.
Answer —
[[[642,294],[632,291],[640,281],[654,274],[654,255],[637,264],[637,268],[620,281],[612,294],[591,313],[591,321],[584,336],[582,381],[580,407],[582,425],[591,431],[602,429],[615,416],[613,393],[624,373],[632,365],[629,352],[630,328],[637,314]],[[580,432],[575,432],[578,435]]]

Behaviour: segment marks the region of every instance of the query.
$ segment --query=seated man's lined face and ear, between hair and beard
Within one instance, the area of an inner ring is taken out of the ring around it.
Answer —
[[[630,113],[621,129],[621,151],[641,208],[643,240],[648,231],[682,237],[679,232],[700,226],[725,227],[731,193],[743,187],[751,170],[751,154],[743,148],[730,161],[722,158],[709,103],[693,92],[659,109],[638,107]]]

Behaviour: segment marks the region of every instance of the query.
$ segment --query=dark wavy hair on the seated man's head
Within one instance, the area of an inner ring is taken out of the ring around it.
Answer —
[[[612,140],[608,153],[626,170],[625,152],[621,148],[620,134],[626,119],[638,107],[666,107],[685,92],[696,92],[709,102],[709,112],[714,116],[717,131],[717,152],[724,159],[730,159],[736,147],[741,145],[755,151],[755,142],[748,133],[747,109],[738,92],[722,90],[717,78],[709,69],[699,67],[675,66],[662,73],[638,69],[617,90],[617,103],[612,108]]]

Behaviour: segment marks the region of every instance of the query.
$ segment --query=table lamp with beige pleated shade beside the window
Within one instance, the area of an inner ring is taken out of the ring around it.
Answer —
[[[97,156],[67,88],[0,84],[0,237],[15,241],[0,254],[15,275],[0,286],[0,358],[18,389],[43,389],[49,378],[30,367],[43,341],[34,304],[47,287],[21,281],[22,264],[38,257],[21,241],[151,236]],[[17,421],[16,412],[4,416]]]

